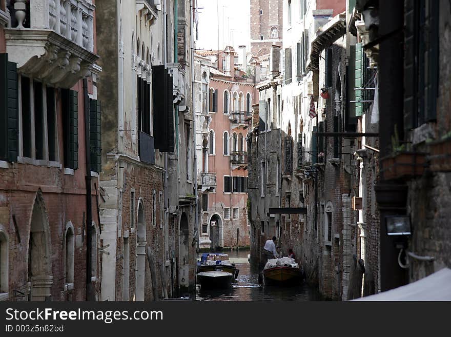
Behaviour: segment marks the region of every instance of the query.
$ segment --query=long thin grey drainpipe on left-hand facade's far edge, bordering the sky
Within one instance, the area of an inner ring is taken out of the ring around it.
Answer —
[[[194,111],[194,28],[193,28],[193,0],[190,0],[190,44],[191,44],[191,100],[192,100],[192,111],[193,111],[193,150],[194,150],[194,195],[196,198],[195,201],[195,210],[194,210],[194,235],[193,238],[196,240],[196,252],[199,251],[199,240],[198,240],[198,195],[197,195],[197,148],[196,148],[196,113]],[[196,299],[196,290],[193,291],[193,298]]]

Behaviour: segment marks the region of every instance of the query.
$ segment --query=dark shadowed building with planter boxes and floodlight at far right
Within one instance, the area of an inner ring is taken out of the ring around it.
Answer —
[[[451,45],[439,38],[450,34],[450,10],[446,1],[403,1],[389,7],[357,1],[355,26],[378,72],[380,174],[375,198],[380,221],[367,229],[378,235],[377,244],[365,248],[365,255],[374,256],[378,291],[451,265]],[[391,34],[397,30],[404,34]],[[392,228],[393,223],[402,230]],[[404,234],[389,235],[396,231]]]

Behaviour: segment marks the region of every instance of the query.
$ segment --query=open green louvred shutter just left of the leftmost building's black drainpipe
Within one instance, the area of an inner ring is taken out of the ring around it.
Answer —
[[[78,92],[61,89],[64,124],[64,166],[78,169]]]

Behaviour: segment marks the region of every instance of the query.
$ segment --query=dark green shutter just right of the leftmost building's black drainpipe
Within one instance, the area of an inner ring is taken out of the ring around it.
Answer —
[[[101,116],[100,102],[89,100],[89,135],[91,141],[91,171],[101,171]]]

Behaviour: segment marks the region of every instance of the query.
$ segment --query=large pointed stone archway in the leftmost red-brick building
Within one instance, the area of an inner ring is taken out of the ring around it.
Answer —
[[[30,301],[45,301],[50,298],[53,284],[50,261],[49,222],[40,192],[37,193],[31,215],[28,243],[28,282],[31,283]]]

